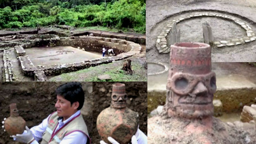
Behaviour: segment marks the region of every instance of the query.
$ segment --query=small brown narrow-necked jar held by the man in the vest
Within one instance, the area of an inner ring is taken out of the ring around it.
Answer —
[[[9,135],[22,134],[26,127],[26,121],[19,116],[15,103],[10,104],[10,117],[5,120],[5,130]]]

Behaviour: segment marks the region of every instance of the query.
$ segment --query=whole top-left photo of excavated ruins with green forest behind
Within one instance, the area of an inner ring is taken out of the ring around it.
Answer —
[[[145,13],[145,0],[1,1],[0,81],[147,81]]]

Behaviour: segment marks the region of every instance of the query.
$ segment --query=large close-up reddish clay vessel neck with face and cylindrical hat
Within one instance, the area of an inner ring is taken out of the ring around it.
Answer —
[[[168,115],[213,115],[216,76],[211,72],[211,47],[204,43],[175,43],[171,46],[170,65],[166,86]]]

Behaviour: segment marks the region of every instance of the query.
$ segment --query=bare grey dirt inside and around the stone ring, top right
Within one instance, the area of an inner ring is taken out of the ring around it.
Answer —
[[[198,12],[221,11],[248,23],[256,30],[256,2],[255,0],[147,0],[146,1],[146,57],[148,62],[168,62],[169,53],[159,54],[156,49],[156,37],[169,20],[187,15],[192,10]],[[200,10],[200,11],[199,11]],[[209,11],[210,10],[210,11]],[[181,31],[181,41],[203,42],[201,23],[209,21],[213,30],[214,40],[229,40],[245,37],[246,33],[239,25],[224,19],[198,17],[182,21],[177,24]],[[167,46],[168,45],[167,36]],[[256,41],[238,46],[212,48],[213,62],[253,62],[256,60]]]

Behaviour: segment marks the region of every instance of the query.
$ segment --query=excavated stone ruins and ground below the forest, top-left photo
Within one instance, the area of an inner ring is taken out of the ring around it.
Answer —
[[[135,67],[143,67],[145,63],[145,48],[141,46],[145,45],[145,35],[97,30],[81,32],[52,27],[41,28],[38,34],[37,29],[29,28],[0,31],[0,65],[3,66],[0,74],[3,81],[62,81],[53,77],[120,60],[114,67],[91,71],[121,69],[128,58],[132,59]],[[114,49],[115,55],[102,57],[103,47]],[[147,79],[147,70],[141,68],[140,71],[142,75],[145,73]],[[83,77],[87,76],[79,79]],[[106,79],[111,80],[111,77]]]

